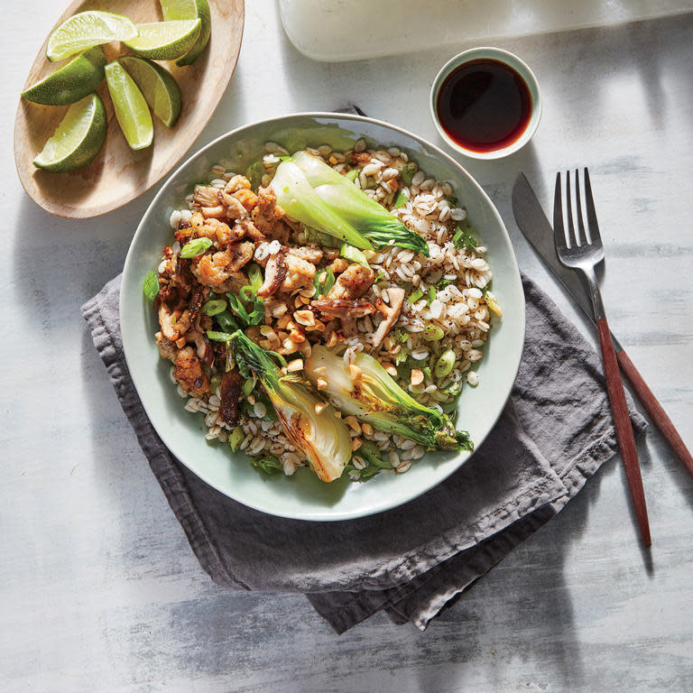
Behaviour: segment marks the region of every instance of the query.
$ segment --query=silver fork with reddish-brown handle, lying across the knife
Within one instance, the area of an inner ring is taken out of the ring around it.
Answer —
[[[589,297],[595,311],[596,328],[599,333],[599,346],[602,350],[606,391],[614,414],[616,440],[624,460],[625,476],[631,493],[635,517],[640,525],[640,533],[645,546],[651,546],[650,524],[647,518],[645,493],[642,488],[642,476],[638,452],[633,438],[628,407],[625,403],[624,383],[619,374],[618,362],[611,341],[609,326],[606,322],[602,295],[596,282],[596,264],[604,260],[604,246],[596,221],[595,200],[592,197],[592,186],[589,181],[589,171],[585,169],[585,208],[587,210],[587,230],[582,216],[582,200],[580,198],[580,180],[575,170],[575,207],[577,217],[577,233],[573,221],[572,195],[570,192],[570,171],[566,171],[566,218],[568,221],[568,242],[565,226],[563,225],[563,203],[561,195],[560,172],[556,175],[556,191],[553,200],[553,233],[556,252],[559,260],[566,267],[582,273],[587,281]]]

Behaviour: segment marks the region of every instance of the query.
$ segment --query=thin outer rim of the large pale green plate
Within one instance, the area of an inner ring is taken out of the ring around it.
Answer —
[[[378,125],[384,128],[387,128],[389,130],[392,130],[396,133],[403,134],[405,136],[411,137],[411,139],[424,144],[427,147],[430,147],[431,150],[436,152],[438,156],[440,156],[442,159],[446,160],[450,165],[452,165],[454,168],[460,170],[462,172],[462,175],[466,176],[472,186],[476,188],[477,193],[486,200],[488,203],[489,207],[491,208],[493,216],[496,218],[496,221],[500,223],[502,228],[505,231],[505,238],[507,240],[508,245],[510,246],[510,258],[516,273],[517,280],[519,282],[519,288],[520,291],[518,293],[519,300],[522,302],[522,310],[520,311],[520,326],[519,326],[519,331],[521,334],[520,338],[520,344],[518,345],[518,348],[516,349],[514,355],[513,355],[513,361],[514,363],[512,364],[512,371],[513,371],[513,378],[510,383],[510,386],[508,387],[508,392],[505,393],[505,396],[503,400],[498,400],[496,402],[496,406],[494,411],[492,411],[492,418],[493,418],[493,423],[489,426],[488,430],[486,431],[484,440],[488,437],[488,435],[491,433],[491,431],[494,429],[495,424],[497,421],[500,419],[501,414],[504,411],[505,404],[508,401],[508,398],[510,397],[510,393],[513,390],[513,384],[515,380],[517,379],[517,374],[520,370],[520,364],[522,361],[522,352],[524,350],[524,338],[525,338],[525,328],[526,328],[526,316],[525,316],[525,298],[524,298],[524,291],[522,290],[522,278],[520,275],[520,268],[517,264],[517,257],[515,255],[514,249],[513,249],[513,244],[510,239],[510,234],[508,233],[508,230],[504,224],[503,217],[501,217],[500,212],[498,209],[495,207],[493,201],[491,198],[488,197],[488,195],[485,192],[485,189],[483,189],[480,185],[480,183],[476,180],[476,178],[469,172],[467,169],[460,163],[455,161],[453,157],[451,157],[447,152],[443,152],[443,150],[440,149],[439,146],[436,146],[435,144],[430,143],[428,140],[425,140],[424,138],[420,137],[418,134],[413,134],[408,130],[405,130],[402,127],[399,127],[397,125],[392,125],[390,123],[387,123],[386,121],[383,120],[378,120],[377,118],[371,118],[366,115],[356,115],[356,114],[348,114],[348,113],[336,113],[336,112],[330,112],[330,111],[306,111],[306,112],[298,112],[298,113],[291,113],[287,115],[277,115],[273,116],[270,118],[263,118],[262,120],[257,120],[254,121],[253,123],[249,123],[247,125],[240,125],[239,127],[234,128],[233,130],[229,130],[225,134],[221,134],[218,137],[216,137],[214,140],[211,142],[205,144],[204,146],[200,147],[197,152],[194,152],[188,156],[188,158],[180,163],[180,165],[176,168],[175,171],[172,171],[169,174],[169,177],[162,183],[161,188],[157,191],[156,195],[152,199],[152,202],[150,202],[149,207],[146,209],[146,211],[143,214],[142,219],[140,220],[140,223],[137,226],[137,229],[134,232],[133,239],[130,242],[130,246],[127,250],[127,254],[125,256],[125,264],[123,267],[123,284],[122,286],[125,286],[127,283],[127,280],[129,278],[129,275],[133,272],[133,264],[134,264],[134,245],[135,245],[135,240],[138,238],[138,236],[142,235],[144,233],[144,227],[149,219],[149,217],[152,215],[153,209],[156,207],[156,205],[159,203],[159,200],[166,194],[166,189],[168,185],[170,184],[171,180],[175,179],[175,177],[178,175],[179,171],[181,171],[183,168],[189,165],[192,160],[199,158],[200,156],[203,156],[205,152],[208,151],[208,149],[211,149],[214,147],[217,143],[219,143],[222,140],[226,140],[229,137],[232,137],[236,134],[239,134],[240,132],[244,130],[248,130],[252,127],[255,127],[257,125],[263,125],[264,123],[272,123],[278,120],[284,120],[284,119],[291,119],[291,118],[297,118],[297,117],[310,117],[310,118],[330,118],[330,119],[336,119],[336,120],[346,120],[346,121],[365,121],[367,123],[373,124],[373,125]],[[123,308],[125,305],[125,294],[126,291],[123,291],[121,288],[120,291],[120,297],[118,299],[118,310],[120,312],[120,315],[123,315]],[[166,446],[168,450],[171,451],[173,455],[176,455],[176,451],[174,448],[176,448],[175,444],[171,443],[171,437],[169,436],[167,430],[165,428],[162,428],[161,425],[158,425],[157,423],[152,420],[152,417],[150,415],[150,412],[147,410],[147,405],[145,403],[146,401],[146,393],[143,393],[140,391],[140,388],[138,387],[137,381],[135,380],[134,372],[136,371],[136,368],[133,368],[134,365],[134,358],[133,354],[130,351],[130,345],[132,343],[132,340],[134,337],[130,335],[129,328],[127,327],[127,323],[123,323],[121,319],[121,337],[122,337],[122,343],[123,343],[123,354],[125,356],[125,364],[127,365],[128,369],[130,370],[130,373],[132,375],[132,381],[134,384],[134,389],[135,392],[137,393],[137,396],[140,398],[140,402],[142,403],[143,410],[147,414],[147,417],[149,418],[152,428],[157,432],[159,437],[162,439],[163,444]],[[129,354],[129,356],[128,356]],[[467,456],[457,465],[457,467],[453,467],[450,469],[445,475],[436,477],[435,480],[430,481],[430,483],[423,484],[420,486],[418,489],[418,493],[411,495],[410,498],[407,500],[401,501],[398,499],[388,499],[385,502],[383,502],[380,505],[376,505],[374,507],[368,508],[365,511],[342,511],[338,513],[330,513],[324,510],[320,511],[313,511],[311,513],[301,513],[301,514],[294,514],[294,513],[286,513],[286,512],[276,512],[273,509],[270,509],[266,506],[263,506],[262,504],[254,504],[254,503],[249,503],[246,499],[241,499],[236,497],[236,495],[231,495],[227,492],[226,489],[219,488],[211,479],[208,478],[208,476],[204,474],[200,474],[198,470],[192,469],[188,466],[187,462],[185,459],[182,457],[179,457],[180,462],[189,469],[192,474],[195,476],[198,476],[205,484],[208,484],[212,488],[216,489],[220,494],[226,495],[226,497],[232,498],[233,500],[236,500],[238,503],[244,504],[246,507],[253,508],[254,510],[257,510],[261,513],[269,513],[273,514],[276,517],[283,517],[285,519],[289,520],[301,520],[304,522],[340,522],[344,520],[356,520],[360,517],[367,517],[368,515],[374,515],[378,513],[384,513],[388,510],[392,510],[393,508],[399,507],[400,505],[404,505],[407,503],[411,503],[411,501],[415,500],[416,498],[420,497],[420,495],[425,494],[426,492],[430,491],[431,488],[434,486],[438,486],[439,484],[442,484],[448,476],[452,476],[459,467],[461,467],[469,457],[472,457],[476,453],[476,450],[481,446],[481,443],[483,440],[477,441],[475,445],[475,449],[473,452],[468,453]],[[465,455],[466,453],[460,452],[459,455]]]

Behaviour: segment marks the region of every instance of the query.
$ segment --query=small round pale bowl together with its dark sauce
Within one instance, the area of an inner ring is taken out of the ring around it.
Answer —
[[[440,136],[473,159],[501,159],[531,140],[541,119],[539,82],[516,55],[474,48],[440,69],[430,89]]]

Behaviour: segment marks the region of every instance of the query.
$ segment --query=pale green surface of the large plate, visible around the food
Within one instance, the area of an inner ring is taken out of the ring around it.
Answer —
[[[216,163],[227,170],[245,167],[264,153],[264,143],[282,144],[289,152],[330,144],[337,150],[353,147],[359,137],[369,146],[397,146],[438,180],[449,180],[467,207],[469,218],[488,247],[494,273],[494,294],[502,309],[485,347],[476,389],[465,387],[458,406],[458,427],[469,431],[476,448],[494,427],[510,394],[520,365],[524,341],[524,294],[513,247],[491,200],[448,154],[416,135],[357,115],[310,113],[273,118],[246,125],[219,137],[189,158],[166,181],[144,215],[125,259],[120,317],[123,346],[130,374],[152,425],[173,455],[217,491],[239,503],[282,517],[312,521],[347,520],[380,513],[411,501],[444,481],[469,457],[465,453],[430,453],[403,475],[386,472],[365,483],[340,479],[324,484],[309,469],[294,476],[264,476],[245,455],[227,445],[208,443],[201,414],[183,409],[184,400],[169,379],[169,361],[154,343],[158,324],[143,297],[145,275],[155,268],[162,247],[171,245],[169,217],[185,207],[184,198],[195,182],[208,180]]]

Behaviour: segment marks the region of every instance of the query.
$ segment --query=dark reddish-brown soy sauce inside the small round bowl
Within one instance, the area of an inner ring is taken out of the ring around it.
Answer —
[[[436,104],[451,140],[472,152],[494,152],[518,140],[531,116],[526,82],[500,60],[470,60],[451,72]]]

